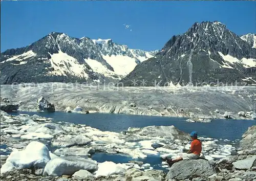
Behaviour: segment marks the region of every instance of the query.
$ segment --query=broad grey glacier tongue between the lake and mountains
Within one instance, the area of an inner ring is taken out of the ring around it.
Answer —
[[[97,85],[97,84],[95,84]],[[18,110],[35,111],[41,96],[54,110],[209,119],[256,119],[255,86],[113,87],[41,83],[1,85],[1,95],[22,102]]]

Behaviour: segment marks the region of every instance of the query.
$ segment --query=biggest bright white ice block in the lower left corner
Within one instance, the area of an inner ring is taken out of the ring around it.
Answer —
[[[44,168],[50,160],[49,149],[44,144],[33,141],[25,150],[11,152],[1,168],[1,173],[13,169]]]

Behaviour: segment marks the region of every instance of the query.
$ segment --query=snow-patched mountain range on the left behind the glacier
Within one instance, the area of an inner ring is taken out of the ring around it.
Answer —
[[[27,47],[1,53],[1,84],[117,82],[156,53],[129,49],[111,39],[79,39],[53,32]],[[125,63],[130,66],[124,71]]]

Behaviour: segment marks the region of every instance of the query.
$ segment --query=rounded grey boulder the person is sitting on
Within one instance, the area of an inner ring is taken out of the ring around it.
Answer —
[[[206,160],[188,160],[175,163],[166,175],[166,179],[208,178],[215,173],[214,166]]]

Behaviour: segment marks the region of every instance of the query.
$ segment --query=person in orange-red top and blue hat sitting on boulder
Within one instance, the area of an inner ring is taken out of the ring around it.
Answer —
[[[167,164],[172,166],[175,162],[179,162],[182,160],[196,160],[199,158],[200,153],[202,151],[202,143],[197,139],[197,131],[192,131],[190,133],[190,138],[192,141],[191,147],[186,154],[181,155],[177,159],[174,160],[166,160]]]

